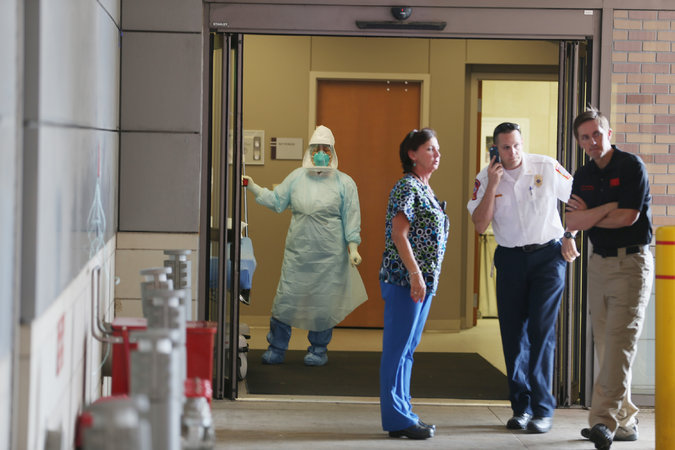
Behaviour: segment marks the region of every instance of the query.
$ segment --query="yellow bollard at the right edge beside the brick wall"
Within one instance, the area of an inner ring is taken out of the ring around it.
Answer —
[[[656,231],[656,448],[675,448],[675,227]]]

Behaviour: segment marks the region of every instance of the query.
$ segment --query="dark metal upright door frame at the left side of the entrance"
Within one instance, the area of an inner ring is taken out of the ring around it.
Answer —
[[[214,58],[214,41],[219,35],[222,41],[222,58]],[[199,318],[215,320],[218,324],[215,337],[213,397],[217,399],[236,399],[238,396],[238,352],[239,352],[239,294],[241,241],[241,175],[242,175],[242,75],[243,75],[243,35],[238,33],[211,32],[208,35],[208,71],[205,71],[205,114],[202,128],[205,148],[202,152],[202,203],[199,239]],[[213,67],[219,64],[221,70],[220,123],[213,123]],[[212,128],[213,127],[213,128]],[[212,165],[212,131],[220,134],[219,167]],[[232,141],[229,134],[232,134]],[[230,148],[231,147],[231,148]],[[231,162],[228,155],[232,155]],[[217,171],[214,177],[212,171]],[[211,228],[211,185],[217,179],[220,205],[218,208],[218,226]],[[227,229],[228,216],[232,221],[231,233]],[[215,311],[207,303],[212,297],[209,287],[211,271],[211,242],[218,243],[217,288],[215,292]],[[230,254],[227,254],[230,244]],[[228,262],[231,261],[231,264]],[[228,274],[231,267],[231,274]],[[231,284],[227,286],[228,275]]]

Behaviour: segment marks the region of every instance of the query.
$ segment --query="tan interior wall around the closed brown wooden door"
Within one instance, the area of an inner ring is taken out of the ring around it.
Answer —
[[[475,175],[476,155],[468,151],[466,114],[468,64],[556,65],[557,44],[526,41],[462,39],[385,39],[337,37],[246,36],[244,39],[244,129],[265,130],[265,165],[246,167],[256,183],[271,188],[299,161],[272,160],[269,138],[302,137],[306,145],[309,75],[315,72],[416,73],[430,76],[429,125],[438,132],[443,160],[431,182],[448,202],[450,239],[442,279],[432,306],[429,328],[459,330],[471,326],[473,299],[473,227],[467,224],[466,201]],[[528,69],[529,70],[529,69]],[[365,187],[359,186],[364,192]],[[281,270],[290,212],[276,214],[248,198],[249,235],[258,266],[251,305],[242,306],[242,320],[265,323]],[[362,236],[368,239],[368,236]],[[466,245],[466,240],[471,245]],[[468,323],[467,323],[468,322]]]

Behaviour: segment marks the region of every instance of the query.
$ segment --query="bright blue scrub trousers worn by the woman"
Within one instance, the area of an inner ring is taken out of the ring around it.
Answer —
[[[380,282],[384,298],[384,330],[380,361],[380,412],[382,428],[398,431],[416,425],[417,414],[410,404],[413,353],[422,337],[431,298],[410,298],[410,288]]]

